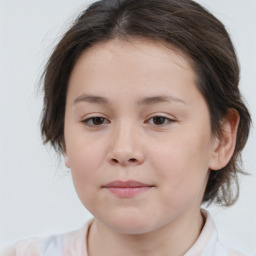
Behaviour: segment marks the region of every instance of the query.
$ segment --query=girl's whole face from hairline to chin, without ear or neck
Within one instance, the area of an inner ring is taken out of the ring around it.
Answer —
[[[182,54],[142,39],[85,51],[69,81],[64,137],[77,194],[108,228],[145,233],[199,213],[214,139]]]

